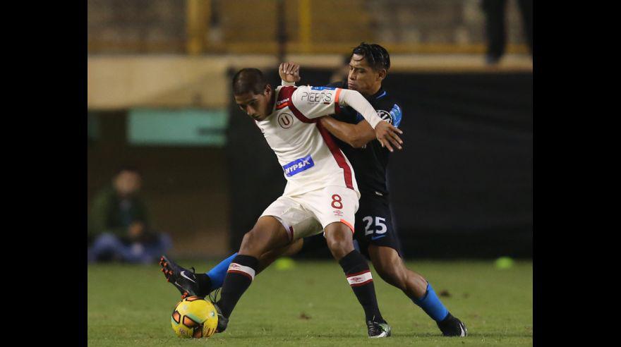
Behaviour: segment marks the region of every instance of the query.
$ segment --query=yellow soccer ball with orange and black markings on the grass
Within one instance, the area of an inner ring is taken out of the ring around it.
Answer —
[[[218,315],[209,301],[198,296],[188,296],[177,303],[170,322],[176,336],[200,339],[216,332]]]

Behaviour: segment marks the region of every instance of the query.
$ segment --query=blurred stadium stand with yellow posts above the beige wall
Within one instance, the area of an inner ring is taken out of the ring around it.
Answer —
[[[90,54],[275,54],[278,0],[88,0]],[[283,1],[287,51],[342,54],[382,42],[392,54],[485,50],[480,0]],[[507,8],[509,53],[526,53]],[[198,42],[195,42],[198,40]]]

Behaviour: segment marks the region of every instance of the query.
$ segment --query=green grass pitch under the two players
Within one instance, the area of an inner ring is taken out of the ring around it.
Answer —
[[[215,262],[181,262],[198,271]],[[392,337],[366,337],[363,310],[336,262],[296,262],[255,278],[227,331],[179,339],[170,314],[179,292],[155,266],[88,267],[88,346],[532,346],[533,265],[495,269],[492,261],[408,262],[466,323],[469,336],[446,338],[423,310],[375,272],[375,290]],[[303,318],[310,317],[310,318]]]

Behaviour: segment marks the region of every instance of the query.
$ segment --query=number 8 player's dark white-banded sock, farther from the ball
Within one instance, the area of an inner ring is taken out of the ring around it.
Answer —
[[[358,302],[364,309],[366,320],[374,322],[384,322],[384,318],[378,308],[378,299],[375,296],[375,286],[373,276],[369,270],[366,259],[357,250],[352,250],[349,254],[339,260],[339,264],[345,272],[347,281],[354,290]]]

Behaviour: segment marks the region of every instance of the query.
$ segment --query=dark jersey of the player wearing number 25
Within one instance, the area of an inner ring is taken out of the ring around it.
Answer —
[[[347,89],[346,81],[331,83],[328,86]],[[383,87],[366,99],[378,111],[378,116],[399,128],[402,117],[401,107]],[[364,120],[361,114],[349,106],[342,107],[334,115],[334,118],[351,124],[357,124]],[[378,140],[368,142],[363,148],[354,148],[337,138],[335,140],[351,162],[351,166],[354,166],[360,193],[362,195],[387,196],[387,166],[390,151],[382,147]]]

